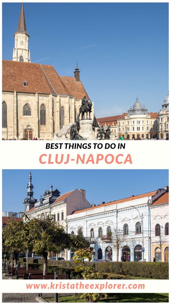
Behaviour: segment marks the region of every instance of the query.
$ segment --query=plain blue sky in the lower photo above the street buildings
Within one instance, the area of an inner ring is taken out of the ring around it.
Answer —
[[[27,194],[30,170],[2,170],[2,210],[21,212]],[[61,194],[75,188],[86,190],[92,204],[122,199],[164,188],[168,170],[31,170],[33,197],[37,200],[46,190],[58,189]],[[131,188],[133,186],[133,188]]]

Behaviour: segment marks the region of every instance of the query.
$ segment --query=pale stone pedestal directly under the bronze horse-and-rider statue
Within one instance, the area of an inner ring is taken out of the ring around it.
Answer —
[[[80,120],[79,135],[87,140],[96,140],[95,131],[92,129],[92,120]]]

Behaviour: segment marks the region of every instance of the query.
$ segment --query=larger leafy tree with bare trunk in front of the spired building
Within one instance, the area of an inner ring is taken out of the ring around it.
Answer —
[[[32,252],[44,257],[44,272],[47,274],[47,255],[49,251],[59,253],[60,250],[73,246],[71,235],[64,227],[54,221],[53,215],[41,214],[40,218],[32,218],[27,222],[29,231],[29,248]]]

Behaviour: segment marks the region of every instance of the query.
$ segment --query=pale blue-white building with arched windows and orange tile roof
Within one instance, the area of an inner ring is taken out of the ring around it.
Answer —
[[[92,258],[117,261],[113,232],[122,232],[119,261],[152,261],[150,206],[166,192],[162,188],[75,211],[67,217],[68,233],[76,234],[81,227],[91,241]],[[68,250],[67,259],[72,256],[73,251]]]

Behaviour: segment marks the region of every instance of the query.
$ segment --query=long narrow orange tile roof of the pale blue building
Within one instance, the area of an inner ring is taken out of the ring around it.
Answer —
[[[123,203],[123,202],[127,202],[127,201],[132,201],[132,200],[135,200],[135,199],[145,198],[147,196],[153,196],[153,195],[155,195],[156,192],[157,191],[153,191],[153,192],[149,192],[149,193],[145,193],[145,194],[141,194],[141,195],[137,195],[137,196],[133,196],[133,197],[127,197],[127,198],[124,198],[124,199],[119,199],[119,200],[115,200],[115,201],[106,202],[103,205],[99,204],[97,206],[93,206],[91,208],[87,208],[87,209],[84,209],[84,210],[74,211],[72,214],[77,214],[77,213],[82,213],[84,211],[97,209],[101,206],[110,206],[112,204],[118,204],[118,203]]]

